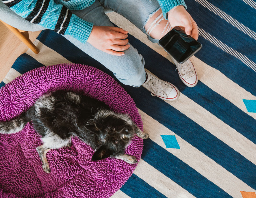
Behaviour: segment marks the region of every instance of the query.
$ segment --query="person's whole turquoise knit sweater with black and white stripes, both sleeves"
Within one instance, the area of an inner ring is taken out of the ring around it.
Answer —
[[[85,21],[70,10],[82,10],[95,0],[2,0],[16,14],[31,23],[39,24],[57,33],[71,35],[85,43],[92,31],[93,23]],[[118,1],[118,0],[116,0]],[[157,0],[166,19],[167,12],[178,5],[186,8],[184,0]],[[57,2],[57,3],[55,3]]]

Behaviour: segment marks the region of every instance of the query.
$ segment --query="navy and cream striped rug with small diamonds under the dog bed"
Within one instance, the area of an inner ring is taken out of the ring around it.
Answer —
[[[203,48],[191,58],[196,87],[186,87],[168,54],[128,20],[111,21],[130,33],[145,68],[181,91],[177,101],[122,85],[133,97],[150,139],[133,175],[112,197],[256,197],[256,2],[190,0]],[[40,49],[22,54],[1,86],[37,67],[82,63],[114,75],[64,37],[45,30]],[[251,193],[249,193],[251,192]]]

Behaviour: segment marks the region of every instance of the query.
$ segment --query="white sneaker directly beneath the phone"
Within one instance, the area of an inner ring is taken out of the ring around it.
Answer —
[[[194,87],[197,84],[198,78],[193,63],[188,59],[185,63],[178,63],[172,58],[178,70],[179,78],[188,87]]]

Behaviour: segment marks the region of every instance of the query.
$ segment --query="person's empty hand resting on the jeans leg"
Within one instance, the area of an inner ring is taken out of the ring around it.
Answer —
[[[120,27],[94,25],[87,42],[103,52],[122,56],[125,55],[123,51],[130,47],[130,45],[127,44],[127,33],[128,31]]]

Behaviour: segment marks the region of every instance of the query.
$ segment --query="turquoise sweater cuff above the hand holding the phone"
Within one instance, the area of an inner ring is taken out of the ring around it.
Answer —
[[[164,15],[164,19],[168,20],[168,12],[178,6],[178,5],[183,5],[185,9],[187,9],[187,6],[184,2],[184,0],[158,0],[160,7],[162,8],[162,12]]]

